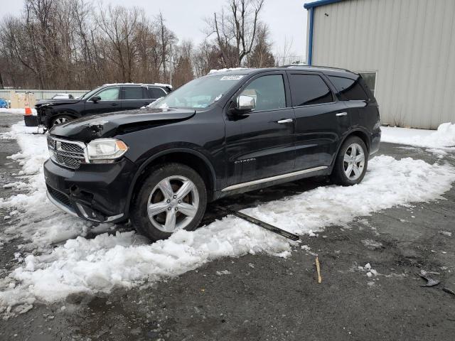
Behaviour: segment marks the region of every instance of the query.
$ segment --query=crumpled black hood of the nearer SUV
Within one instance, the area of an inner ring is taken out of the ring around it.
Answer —
[[[75,119],[54,126],[49,134],[63,139],[90,142],[94,139],[112,137],[132,131],[170,124],[193,117],[190,109],[136,109],[112,112]]]

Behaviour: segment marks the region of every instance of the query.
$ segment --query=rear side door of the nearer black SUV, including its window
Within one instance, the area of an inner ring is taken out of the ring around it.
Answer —
[[[350,129],[346,105],[319,72],[289,71],[296,115],[296,170],[330,166],[343,135]]]

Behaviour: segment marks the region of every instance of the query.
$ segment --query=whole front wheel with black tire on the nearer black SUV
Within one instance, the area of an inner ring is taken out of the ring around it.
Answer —
[[[132,224],[152,241],[166,239],[178,229],[193,231],[207,205],[203,179],[181,163],[152,168],[136,194],[130,215]]]

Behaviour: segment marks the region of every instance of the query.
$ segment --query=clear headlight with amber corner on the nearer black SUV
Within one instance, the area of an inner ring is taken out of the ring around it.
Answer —
[[[90,163],[112,163],[128,150],[124,141],[117,139],[96,139],[87,145]]]

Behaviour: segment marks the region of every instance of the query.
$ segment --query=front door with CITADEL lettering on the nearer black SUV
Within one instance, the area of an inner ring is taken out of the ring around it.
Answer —
[[[234,103],[240,95],[255,98],[256,107],[225,116],[228,186],[294,171],[295,116],[284,72],[252,77]]]

